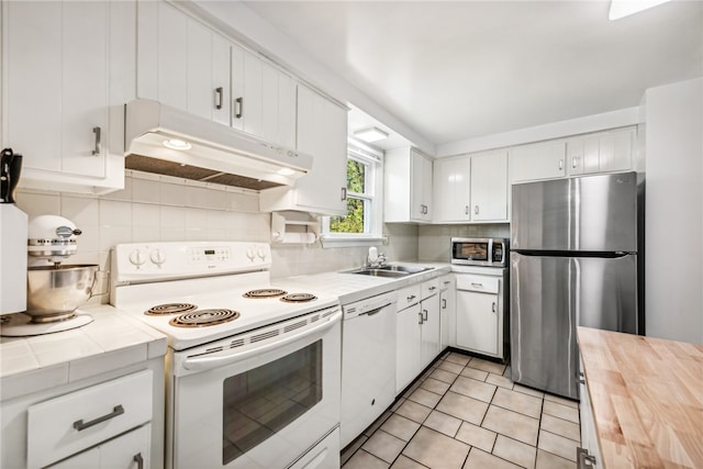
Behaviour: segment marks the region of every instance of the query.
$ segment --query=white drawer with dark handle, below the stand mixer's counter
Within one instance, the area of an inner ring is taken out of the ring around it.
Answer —
[[[27,466],[41,468],[152,420],[153,371],[81,389],[27,409]]]

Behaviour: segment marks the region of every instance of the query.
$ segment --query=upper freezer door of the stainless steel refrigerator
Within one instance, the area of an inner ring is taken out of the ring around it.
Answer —
[[[511,248],[637,252],[637,174],[514,185]]]

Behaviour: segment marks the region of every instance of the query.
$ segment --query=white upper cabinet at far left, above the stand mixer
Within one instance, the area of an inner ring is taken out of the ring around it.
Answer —
[[[2,2],[2,146],[24,155],[23,187],[103,193],[124,186],[135,15],[129,1]]]

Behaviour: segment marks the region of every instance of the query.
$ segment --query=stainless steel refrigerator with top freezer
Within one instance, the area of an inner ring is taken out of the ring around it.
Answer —
[[[578,399],[577,325],[644,334],[643,213],[636,172],[513,186],[514,381]]]

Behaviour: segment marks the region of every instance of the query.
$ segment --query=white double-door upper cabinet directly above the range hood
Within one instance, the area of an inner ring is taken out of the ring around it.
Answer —
[[[140,3],[140,98],[295,145],[292,77],[166,2]]]

